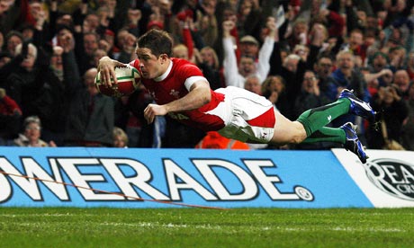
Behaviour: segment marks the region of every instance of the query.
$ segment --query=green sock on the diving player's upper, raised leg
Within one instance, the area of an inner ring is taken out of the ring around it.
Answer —
[[[313,132],[325,127],[331,120],[347,114],[350,105],[351,102],[348,99],[338,99],[337,102],[304,111],[298,121],[302,123],[307,136],[310,137]]]

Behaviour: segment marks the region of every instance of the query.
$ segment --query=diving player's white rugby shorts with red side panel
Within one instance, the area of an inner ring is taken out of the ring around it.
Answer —
[[[228,86],[216,90],[225,95],[224,102],[209,114],[220,116],[223,137],[246,143],[268,143],[275,132],[275,107],[272,102],[245,89]]]

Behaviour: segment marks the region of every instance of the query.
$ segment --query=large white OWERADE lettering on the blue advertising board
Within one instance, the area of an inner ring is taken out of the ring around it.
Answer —
[[[260,189],[273,201],[314,199],[310,190],[299,185],[290,192],[278,189],[283,181],[275,174],[266,173],[276,167],[268,159],[244,159],[245,167],[221,159],[191,159],[193,167],[184,169],[174,160],[164,158],[162,169],[155,171],[151,171],[150,164],[129,158],[49,157],[48,162],[49,166],[41,166],[30,156],[21,157],[22,170],[18,170],[0,156],[0,170],[4,172],[0,174],[0,203],[12,199],[11,182],[34,201],[48,200],[41,190],[44,187],[54,198],[70,201],[68,186],[53,183],[63,182],[65,177],[67,182],[81,186],[76,190],[85,201],[129,201],[141,198],[140,195],[182,201],[188,191],[207,201],[251,200],[257,198]],[[7,173],[11,175],[5,176]],[[43,182],[36,182],[35,178]],[[156,179],[158,184],[154,182]],[[95,183],[103,187],[97,190],[110,188],[108,191],[112,194],[97,192],[91,186]],[[164,187],[160,188],[161,184]]]

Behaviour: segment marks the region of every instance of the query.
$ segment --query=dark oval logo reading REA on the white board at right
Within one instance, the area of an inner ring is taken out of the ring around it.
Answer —
[[[365,172],[380,190],[400,199],[414,200],[413,164],[381,158],[368,162]]]

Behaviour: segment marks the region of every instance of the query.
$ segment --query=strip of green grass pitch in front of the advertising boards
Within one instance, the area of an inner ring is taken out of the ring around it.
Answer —
[[[0,208],[1,247],[413,247],[414,208]]]

